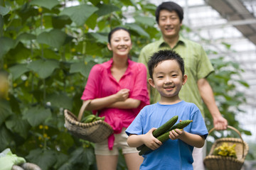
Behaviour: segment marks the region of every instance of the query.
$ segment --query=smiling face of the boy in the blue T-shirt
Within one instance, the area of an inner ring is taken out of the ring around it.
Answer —
[[[181,69],[176,60],[160,62],[153,70],[153,79],[149,84],[156,88],[161,98],[178,99],[178,92],[186,83],[187,76],[182,76]]]

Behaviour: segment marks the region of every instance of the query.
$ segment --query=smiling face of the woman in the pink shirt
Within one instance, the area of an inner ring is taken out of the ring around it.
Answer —
[[[126,30],[115,31],[107,44],[109,50],[113,51],[113,56],[127,57],[129,51],[132,49],[132,40]]]

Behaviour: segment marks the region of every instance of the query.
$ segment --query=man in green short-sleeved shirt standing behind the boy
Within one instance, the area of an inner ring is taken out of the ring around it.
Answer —
[[[214,72],[213,66],[201,45],[179,35],[182,21],[183,8],[181,8],[181,6],[171,1],[160,4],[156,8],[156,22],[161,30],[162,37],[160,40],[146,45],[142,49],[138,61],[147,66],[149,57],[151,57],[154,52],[164,49],[176,51],[183,57],[185,73],[188,75],[188,81],[180,91],[180,98],[183,101],[196,103],[203,117],[204,102],[213,117],[215,129],[225,130],[228,126],[228,121],[220,114],[215,103],[213,90],[206,79],[210,73]],[[151,103],[158,102],[159,98],[160,96],[157,91],[151,89]],[[193,169],[204,169],[203,149],[195,148],[193,150],[193,159]]]

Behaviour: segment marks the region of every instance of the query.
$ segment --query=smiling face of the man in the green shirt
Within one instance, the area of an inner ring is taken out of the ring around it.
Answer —
[[[159,28],[164,38],[177,38],[182,23],[176,11],[161,10],[159,13]]]

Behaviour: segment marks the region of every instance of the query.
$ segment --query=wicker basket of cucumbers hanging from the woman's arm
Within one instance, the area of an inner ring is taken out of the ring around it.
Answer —
[[[75,137],[90,142],[102,142],[113,133],[112,127],[103,120],[97,120],[92,123],[81,123],[82,114],[91,100],[85,101],[80,108],[78,118],[65,109],[65,127]]]

